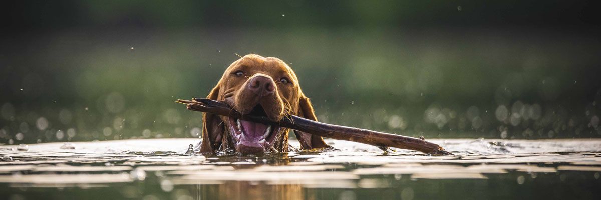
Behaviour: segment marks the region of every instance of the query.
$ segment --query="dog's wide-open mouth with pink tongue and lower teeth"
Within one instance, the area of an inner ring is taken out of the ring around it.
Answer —
[[[249,115],[267,117],[263,106],[257,105]],[[238,153],[261,154],[271,150],[281,127],[228,117],[230,134]]]

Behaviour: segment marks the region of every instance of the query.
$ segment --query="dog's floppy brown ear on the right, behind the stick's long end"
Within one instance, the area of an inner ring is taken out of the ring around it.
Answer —
[[[317,117],[315,117],[315,113],[313,112],[313,106],[311,106],[309,98],[305,97],[305,95],[301,95],[301,98],[299,99],[299,111],[297,115],[307,120],[317,121]],[[297,130],[294,130],[294,135],[296,135],[296,139],[301,143],[302,150],[330,147],[323,142],[323,139],[320,136],[314,136]]]

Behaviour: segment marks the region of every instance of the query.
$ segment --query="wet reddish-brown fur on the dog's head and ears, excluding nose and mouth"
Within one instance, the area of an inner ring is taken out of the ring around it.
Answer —
[[[236,79],[231,76],[237,70],[247,71],[245,79]],[[267,98],[255,99],[256,95],[249,95],[245,87],[249,79],[254,76],[269,76],[275,80],[275,95]],[[278,82],[280,76],[287,76],[291,85]],[[264,58],[259,55],[246,55],[225,70],[219,83],[213,88],[207,98],[218,102],[225,102],[237,112],[249,114],[254,108],[254,103],[263,105],[267,117],[279,121],[290,115],[297,115],[308,120],[317,121],[313,106],[309,98],[301,91],[294,71],[278,58]],[[252,103],[249,103],[252,102]],[[266,108],[267,107],[267,108]],[[231,136],[228,133],[228,119],[213,114],[203,114],[203,141],[198,146],[200,153],[215,153],[215,151],[231,150]],[[288,152],[288,129],[281,129],[273,144],[272,151],[278,153]],[[294,131],[296,138],[301,143],[301,150],[314,148],[329,148],[319,136]]]

